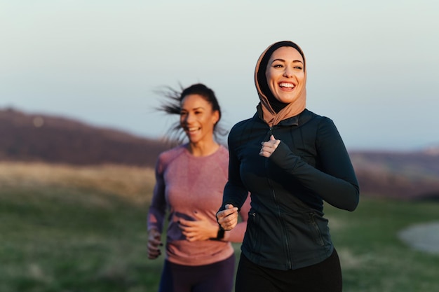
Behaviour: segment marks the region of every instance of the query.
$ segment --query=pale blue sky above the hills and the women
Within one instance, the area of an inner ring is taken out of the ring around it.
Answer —
[[[250,118],[262,51],[295,41],[307,109],[348,150],[439,146],[439,1],[0,0],[0,108],[148,138],[177,121],[166,86],[212,88],[222,126]]]

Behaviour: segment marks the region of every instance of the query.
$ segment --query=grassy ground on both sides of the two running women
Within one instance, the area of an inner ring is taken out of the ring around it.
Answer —
[[[0,291],[156,291],[145,218],[154,177],[136,167],[0,163]],[[439,291],[439,256],[398,232],[438,221],[439,204],[363,199],[327,207],[344,291]],[[237,246],[236,246],[237,247]]]

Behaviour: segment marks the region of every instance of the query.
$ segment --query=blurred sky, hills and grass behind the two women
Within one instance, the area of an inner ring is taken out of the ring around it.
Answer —
[[[360,181],[326,207],[346,291],[437,291],[438,1],[0,0],[0,291],[156,291],[146,212],[177,121],[158,90],[205,83],[223,127],[255,113],[257,58],[295,41],[307,108]],[[239,246],[236,245],[236,255]]]

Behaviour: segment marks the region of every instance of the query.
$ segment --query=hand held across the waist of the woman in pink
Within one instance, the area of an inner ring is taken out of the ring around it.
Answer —
[[[180,219],[179,227],[189,242],[208,240],[217,237],[218,225],[208,217],[194,211],[195,221]]]

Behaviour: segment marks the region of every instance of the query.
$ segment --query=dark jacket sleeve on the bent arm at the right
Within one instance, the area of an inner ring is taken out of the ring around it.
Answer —
[[[353,211],[359,201],[358,181],[342,137],[328,118],[318,125],[316,150],[321,170],[304,162],[282,141],[270,159],[332,206]]]

